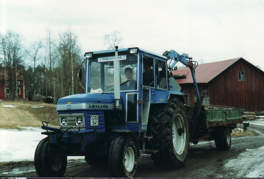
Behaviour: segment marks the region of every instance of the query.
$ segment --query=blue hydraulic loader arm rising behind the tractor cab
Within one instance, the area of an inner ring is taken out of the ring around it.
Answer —
[[[197,83],[196,83],[194,67],[193,67],[194,64],[192,63],[192,58],[188,57],[187,54],[180,55],[174,50],[165,51],[162,55],[167,57],[168,60],[174,59],[174,62],[171,65],[171,68],[174,67],[177,62],[181,62],[186,67],[189,67],[189,69],[191,70],[192,77],[193,77],[194,88],[195,88],[195,91],[196,91],[196,97],[197,97],[197,100],[200,100],[200,95],[199,95],[198,86],[197,86]],[[189,59],[189,60],[186,60],[186,58]]]

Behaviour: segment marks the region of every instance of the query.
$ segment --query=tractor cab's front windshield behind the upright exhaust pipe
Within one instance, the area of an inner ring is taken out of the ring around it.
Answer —
[[[121,91],[138,89],[138,56],[135,54],[122,55],[120,62],[120,86]],[[107,58],[90,59],[90,92],[102,92],[107,89],[114,91],[114,62],[105,60]]]

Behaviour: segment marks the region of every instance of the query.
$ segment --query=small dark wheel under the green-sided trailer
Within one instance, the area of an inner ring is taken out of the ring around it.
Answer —
[[[218,150],[229,150],[231,147],[231,131],[229,127],[219,130],[214,143]]]

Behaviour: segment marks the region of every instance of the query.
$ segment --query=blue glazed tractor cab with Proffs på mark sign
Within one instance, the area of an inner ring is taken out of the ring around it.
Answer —
[[[85,57],[85,92],[113,95],[114,88],[120,87],[125,126],[132,132],[146,131],[150,104],[165,103],[169,97],[166,57],[140,48],[118,49],[117,86],[115,50],[89,52]]]

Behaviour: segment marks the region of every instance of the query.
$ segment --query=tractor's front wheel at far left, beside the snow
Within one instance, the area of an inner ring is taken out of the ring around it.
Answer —
[[[39,177],[62,177],[67,166],[67,156],[48,152],[48,138],[42,139],[35,150],[34,165]]]

